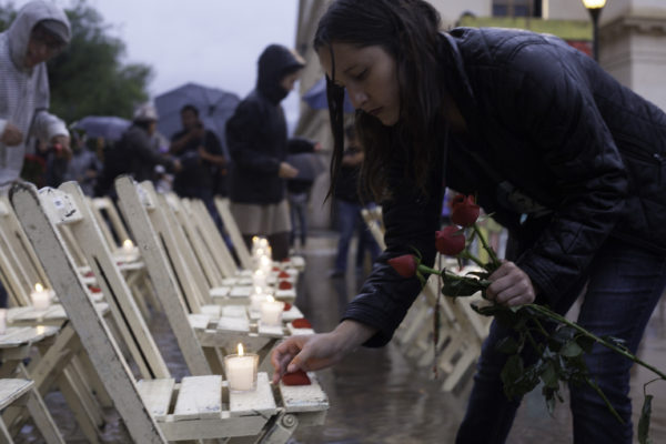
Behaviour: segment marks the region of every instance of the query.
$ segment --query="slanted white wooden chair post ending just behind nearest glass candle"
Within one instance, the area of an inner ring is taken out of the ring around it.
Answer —
[[[158,234],[151,222],[150,213],[159,210],[148,193],[140,193],[139,190],[139,185],[128,175],[115,180],[118,202],[132,233],[134,233],[148,274],[155,286],[155,293],[183,353],[188,369],[193,375],[211,374],[212,371],[203,354],[201,343],[190,326],[180,284],[167,258],[164,234]],[[158,215],[155,214],[155,216]]]

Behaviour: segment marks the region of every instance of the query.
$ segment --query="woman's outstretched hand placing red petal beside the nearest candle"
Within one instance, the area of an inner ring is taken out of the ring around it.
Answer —
[[[374,333],[375,330],[367,325],[346,320],[330,333],[287,337],[271,355],[275,369],[273,383],[278,383],[285,373],[297,370],[309,372],[333,365]]]

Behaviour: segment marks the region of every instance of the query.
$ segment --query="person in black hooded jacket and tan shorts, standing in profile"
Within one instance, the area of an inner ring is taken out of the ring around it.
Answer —
[[[289,254],[286,179],[297,174],[285,162],[286,120],[280,102],[293,89],[303,67],[303,59],[294,51],[269,46],[259,58],[256,88],[226,122],[231,211],[245,243],[250,245],[254,235],[266,236],[278,261]]]

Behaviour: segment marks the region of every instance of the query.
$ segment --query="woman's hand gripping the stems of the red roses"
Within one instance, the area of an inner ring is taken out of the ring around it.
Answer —
[[[513,262],[503,262],[488,280],[492,284],[486,290],[486,296],[491,301],[508,306],[534,302],[536,292],[532,280]]]

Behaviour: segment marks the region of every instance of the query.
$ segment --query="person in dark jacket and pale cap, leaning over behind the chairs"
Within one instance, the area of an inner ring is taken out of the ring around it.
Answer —
[[[98,180],[97,195],[114,196],[113,181],[120,174],[130,174],[137,182],[142,182],[155,179],[157,165],[163,165],[170,172],[180,171],[180,161],[162,155],[153,142],[157,127],[158,111],[152,104],[144,103],[134,110],[130,128],[104,152],[104,168]]]

